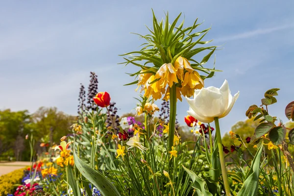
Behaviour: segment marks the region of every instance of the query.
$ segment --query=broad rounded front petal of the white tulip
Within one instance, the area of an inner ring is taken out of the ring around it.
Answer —
[[[198,114],[204,117],[217,117],[221,115],[222,96],[218,92],[202,88],[200,93],[195,98],[195,105]],[[195,111],[195,110],[194,110]]]

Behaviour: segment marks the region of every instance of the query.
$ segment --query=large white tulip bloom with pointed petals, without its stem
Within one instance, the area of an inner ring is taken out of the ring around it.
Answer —
[[[190,105],[187,113],[198,121],[211,123],[215,117],[228,115],[238,97],[239,91],[232,97],[228,81],[224,80],[220,89],[210,86],[195,90],[193,99],[186,97]]]

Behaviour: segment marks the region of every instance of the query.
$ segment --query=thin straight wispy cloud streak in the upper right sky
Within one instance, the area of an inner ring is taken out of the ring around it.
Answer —
[[[230,35],[230,36],[225,36],[225,37],[220,37],[215,39],[216,42],[224,42],[224,41],[232,41],[232,40],[239,40],[239,39],[246,39],[258,35],[264,35],[264,34],[269,34],[275,31],[279,30],[284,30],[284,29],[289,29],[293,28],[293,24],[287,24],[287,25],[281,25],[281,26],[276,26],[276,27],[271,27],[271,28],[259,28],[251,31],[246,31],[244,33],[239,33],[235,35]]]

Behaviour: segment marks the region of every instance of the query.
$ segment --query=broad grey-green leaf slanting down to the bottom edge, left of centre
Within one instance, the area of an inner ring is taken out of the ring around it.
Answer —
[[[108,181],[104,175],[85,164],[73,152],[74,165],[81,172],[81,174],[89,180],[103,196],[121,196],[115,186]]]

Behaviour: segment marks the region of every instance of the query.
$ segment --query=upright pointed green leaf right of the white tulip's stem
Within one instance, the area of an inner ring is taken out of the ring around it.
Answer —
[[[251,168],[246,175],[245,181],[237,196],[257,196],[259,181],[259,166],[263,145],[261,145],[251,164]]]

